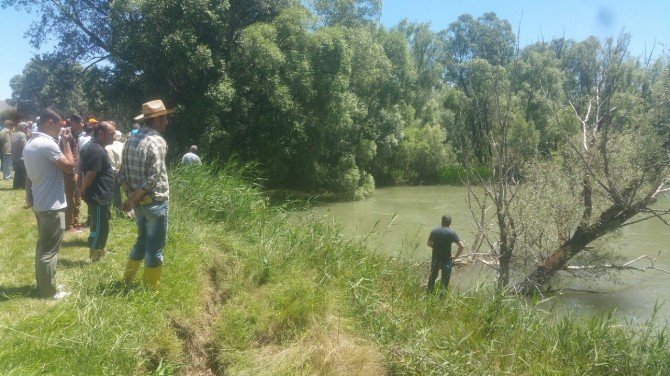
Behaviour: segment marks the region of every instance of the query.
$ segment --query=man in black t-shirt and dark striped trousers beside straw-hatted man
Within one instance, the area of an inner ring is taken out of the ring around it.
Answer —
[[[103,121],[93,130],[93,139],[81,149],[82,196],[88,204],[91,262],[105,255],[109,235],[110,206],[114,200],[114,169],[105,146],[114,142],[116,128]]]

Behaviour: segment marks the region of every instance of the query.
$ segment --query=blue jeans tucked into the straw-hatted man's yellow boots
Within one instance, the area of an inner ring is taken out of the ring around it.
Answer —
[[[129,259],[144,260],[147,268],[163,265],[163,247],[167,240],[167,201],[154,201],[135,207],[137,240],[130,251]]]

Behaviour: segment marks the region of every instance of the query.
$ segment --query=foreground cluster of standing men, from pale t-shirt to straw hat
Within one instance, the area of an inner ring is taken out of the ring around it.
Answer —
[[[93,124],[86,140],[80,116],[71,116],[69,127],[63,127],[54,109],[41,114],[21,153],[27,175],[26,208],[32,208],[37,221],[35,273],[40,297],[61,299],[69,294],[56,284],[56,264],[66,228],[79,226],[80,198],[88,206],[91,261],[106,253],[111,206],[117,201],[119,213],[132,212],[137,226],[123,281],[133,283],[144,263],[144,283],[158,291],[169,199],[167,144],[161,134],[172,112],[161,100],[144,103],[142,114],[135,117],[143,125],[125,143],[112,121],[88,121]],[[123,203],[120,189],[126,193]]]

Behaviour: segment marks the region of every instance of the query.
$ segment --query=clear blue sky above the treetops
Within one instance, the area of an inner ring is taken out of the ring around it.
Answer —
[[[654,55],[670,47],[668,0],[383,0],[381,23],[392,27],[403,19],[428,22],[435,31],[446,29],[462,14],[479,17],[495,12],[519,31],[521,46],[565,36],[578,41],[631,34],[630,51]],[[20,74],[36,53],[24,37],[36,14],[0,8],[0,99],[9,98],[9,81]]]

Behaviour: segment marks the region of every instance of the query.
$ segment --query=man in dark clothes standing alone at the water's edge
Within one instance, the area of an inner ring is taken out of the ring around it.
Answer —
[[[430,262],[430,277],[428,278],[428,292],[435,288],[437,273],[442,270],[442,288],[449,286],[449,277],[451,277],[451,261],[463,252],[463,242],[458,238],[456,232],[450,229],[451,217],[442,216],[442,226],[433,229],[428,237],[428,246],[433,248],[433,255]],[[451,244],[458,245],[456,256],[451,257]]]

